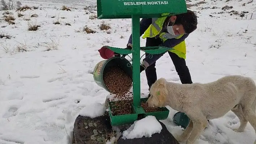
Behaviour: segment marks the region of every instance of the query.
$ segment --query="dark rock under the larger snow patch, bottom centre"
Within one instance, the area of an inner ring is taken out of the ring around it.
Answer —
[[[161,133],[155,133],[150,138],[143,136],[142,138],[135,139],[122,139],[122,135],[119,137],[117,144],[179,144],[174,136],[167,130],[166,126],[158,121],[162,125]]]

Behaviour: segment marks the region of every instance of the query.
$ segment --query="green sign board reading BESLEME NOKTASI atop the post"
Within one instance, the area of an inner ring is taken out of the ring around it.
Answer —
[[[97,0],[98,19],[159,17],[187,12],[185,0]]]

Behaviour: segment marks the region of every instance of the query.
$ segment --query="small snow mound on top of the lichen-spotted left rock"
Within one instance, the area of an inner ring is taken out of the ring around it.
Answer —
[[[83,109],[81,109],[79,114],[84,117],[95,118],[103,115],[105,111],[105,105],[97,102],[85,106]]]

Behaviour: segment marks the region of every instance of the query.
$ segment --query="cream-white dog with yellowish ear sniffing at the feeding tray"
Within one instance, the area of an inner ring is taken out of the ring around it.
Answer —
[[[230,110],[240,120],[236,132],[243,132],[248,121],[256,131],[256,86],[251,78],[233,75],[206,84],[177,84],[160,78],[151,86],[150,94],[150,106],[169,105],[191,119],[176,138],[180,142],[195,143],[208,125],[207,119],[222,117]]]

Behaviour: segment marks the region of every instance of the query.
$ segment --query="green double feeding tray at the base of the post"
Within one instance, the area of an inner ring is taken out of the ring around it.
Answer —
[[[141,102],[146,102],[148,100],[147,98],[140,99]],[[148,115],[153,115],[157,120],[163,120],[166,119],[169,115],[169,110],[166,107],[159,108],[156,112],[146,112],[142,106],[135,108],[134,105],[131,105],[131,114],[122,114],[122,115],[114,115],[113,108],[115,108],[116,102],[120,101],[111,101],[108,102],[108,113],[110,115],[111,125],[125,125],[128,123],[133,123],[136,120],[139,120],[141,118],[145,118]],[[128,105],[125,105],[128,107]]]

